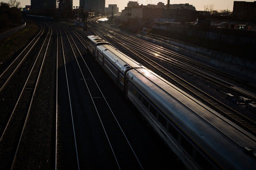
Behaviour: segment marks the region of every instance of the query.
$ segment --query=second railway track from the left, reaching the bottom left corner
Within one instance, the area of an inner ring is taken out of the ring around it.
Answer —
[[[40,52],[33,64],[25,85],[19,95],[16,105],[10,115],[6,126],[1,133],[0,138],[0,157],[1,167],[14,168],[16,155],[19,149],[21,138],[29,117],[33,97],[40,79],[42,66],[52,35],[52,29],[49,28],[47,37],[43,42]],[[10,161],[11,160],[11,161]]]

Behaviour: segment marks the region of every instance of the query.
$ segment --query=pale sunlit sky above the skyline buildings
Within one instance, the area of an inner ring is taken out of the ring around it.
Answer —
[[[8,2],[8,0],[0,0],[3,2]],[[19,0],[21,2],[21,6],[25,7],[25,5],[30,5],[30,0]],[[121,12],[122,9],[124,9],[125,6],[127,6],[129,0],[106,0],[106,7],[108,4],[117,4],[119,7],[119,11]],[[136,1],[136,0],[130,0],[130,1]],[[240,0],[242,1],[242,0]],[[253,2],[255,0],[246,0],[247,2]],[[158,2],[163,2],[167,4],[167,0],[139,0],[139,4],[146,5],[150,2],[152,4],[157,4]],[[214,4],[214,9],[221,10],[221,9],[229,9],[233,10],[233,0],[170,0],[170,4],[184,4],[189,3],[196,7],[197,10],[203,10],[203,6],[207,4]],[[73,0],[73,6],[79,6],[79,0]]]

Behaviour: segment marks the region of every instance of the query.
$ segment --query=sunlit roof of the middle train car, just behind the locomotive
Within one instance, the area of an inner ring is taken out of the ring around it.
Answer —
[[[144,68],[140,63],[128,57],[109,44],[97,46],[97,50],[104,54],[111,62],[118,67],[118,70],[124,72],[131,68]]]

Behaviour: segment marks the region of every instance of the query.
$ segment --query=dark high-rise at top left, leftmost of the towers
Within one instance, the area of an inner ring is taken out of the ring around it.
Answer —
[[[56,11],[56,0],[31,0],[31,12],[37,15],[52,16]]]

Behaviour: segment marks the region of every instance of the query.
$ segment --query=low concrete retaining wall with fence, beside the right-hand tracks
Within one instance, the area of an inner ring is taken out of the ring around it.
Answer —
[[[241,59],[239,57],[235,57],[232,55],[218,53],[216,51],[211,51],[208,49],[181,43],[178,41],[154,38],[153,36],[150,36],[147,34],[138,33],[137,37],[155,42],[163,47],[172,49],[182,54],[186,54],[188,56],[195,57],[209,64],[213,64],[218,67],[235,71],[237,73],[256,79],[256,62],[255,61]]]

